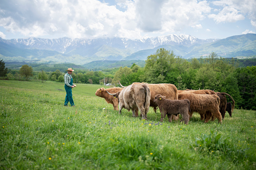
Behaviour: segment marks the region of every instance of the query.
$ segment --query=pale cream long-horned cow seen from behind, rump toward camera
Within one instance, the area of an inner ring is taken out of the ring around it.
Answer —
[[[132,116],[135,117],[135,110],[138,108],[142,114],[142,119],[147,119],[150,104],[150,90],[145,84],[129,85],[124,87],[120,92],[109,94],[113,95],[114,98],[118,98],[119,114],[121,114],[123,108],[126,108],[127,110],[131,109]]]

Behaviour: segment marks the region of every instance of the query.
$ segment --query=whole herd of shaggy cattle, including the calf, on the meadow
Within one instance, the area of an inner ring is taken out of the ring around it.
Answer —
[[[207,123],[210,119],[218,119],[222,123],[226,111],[232,117],[235,101],[227,93],[214,92],[212,90],[178,90],[173,84],[147,84],[132,83],[129,86],[99,88],[95,95],[104,98],[111,103],[119,114],[123,108],[132,110],[132,116],[138,116],[138,110],[142,119],[147,119],[149,106],[156,113],[157,107],[161,113],[160,121],[167,115],[168,121],[178,120],[179,114],[185,124],[188,124],[194,112],[201,116],[201,120]],[[232,100],[228,102],[226,95]]]

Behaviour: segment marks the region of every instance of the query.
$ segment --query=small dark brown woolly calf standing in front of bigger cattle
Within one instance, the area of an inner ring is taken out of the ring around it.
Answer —
[[[182,121],[185,120],[185,124],[189,123],[190,101],[188,99],[168,100],[165,99],[165,96],[161,96],[160,94],[158,94],[155,96],[154,103],[157,104],[161,112],[160,121],[163,121],[166,114],[168,116],[169,122],[172,122],[171,115],[181,114]]]

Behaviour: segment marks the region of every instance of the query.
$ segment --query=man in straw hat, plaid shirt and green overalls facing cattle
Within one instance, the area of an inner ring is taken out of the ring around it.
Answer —
[[[66,71],[67,73],[64,75],[64,83],[65,83],[64,87],[66,90],[66,98],[65,98],[64,106],[67,106],[68,102],[70,102],[71,106],[75,106],[72,98],[72,88],[76,87],[76,85],[73,84],[73,78],[71,76],[72,71],[74,70],[72,70],[72,68],[68,68]]]

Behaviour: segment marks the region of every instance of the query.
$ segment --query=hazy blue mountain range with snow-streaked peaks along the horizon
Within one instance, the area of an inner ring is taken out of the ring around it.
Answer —
[[[202,40],[190,35],[167,35],[131,40],[99,39],[11,39],[0,38],[0,58],[5,62],[52,62],[87,64],[93,61],[146,60],[159,48],[174,51],[185,59],[209,56],[249,57],[256,55],[256,34],[226,39]]]

